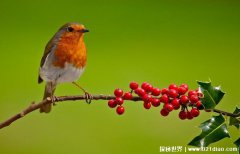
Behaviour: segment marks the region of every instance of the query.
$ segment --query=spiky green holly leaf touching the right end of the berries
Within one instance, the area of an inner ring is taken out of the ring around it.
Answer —
[[[201,98],[202,104],[205,109],[214,109],[215,106],[221,101],[224,96],[220,87],[213,87],[211,82],[197,81],[201,92],[204,97]]]

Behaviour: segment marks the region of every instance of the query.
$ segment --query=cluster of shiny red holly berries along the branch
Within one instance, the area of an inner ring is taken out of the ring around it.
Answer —
[[[133,93],[143,100],[143,106],[145,109],[150,109],[151,106],[159,107],[163,103],[163,108],[160,110],[162,116],[167,116],[171,111],[178,110],[179,118],[192,119],[199,115],[199,110],[203,109],[200,98],[203,94],[199,90],[189,90],[186,84],[177,86],[176,84],[170,84],[168,88],[159,89],[153,87],[151,84],[144,82],[139,87],[137,82],[131,82],[129,84],[131,88],[130,92],[124,93],[121,89],[115,89],[115,99],[108,101],[108,106],[115,108],[116,112],[121,115],[124,113],[123,102],[124,100],[132,100]],[[188,109],[191,108],[191,110]]]

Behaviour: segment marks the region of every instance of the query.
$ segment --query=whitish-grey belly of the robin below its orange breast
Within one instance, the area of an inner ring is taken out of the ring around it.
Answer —
[[[65,63],[64,68],[55,67],[52,65],[51,54],[47,56],[44,65],[40,68],[40,76],[46,82],[64,83],[74,82],[83,73],[84,68],[78,69],[72,64]]]

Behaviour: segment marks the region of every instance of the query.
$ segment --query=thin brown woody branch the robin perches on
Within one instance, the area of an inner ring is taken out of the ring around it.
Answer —
[[[110,100],[110,99],[115,99],[115,96],[111,95],[92,95],[92,100]],[[85,95],[77,95],[77,96],[59,96],[59,97],[54,97],[53,100],[50,98],[47,98],[45,100],[42,100],[39,103],[31,103],[30,106],[25,108],[22,112],[19,112],[15,114],[14,116],[10,117],[9,119],[5,120],[4,122],[0,123],[0,129],[9,126],[11,123],[15,122],[16,120],[24,117],[25,115],[29,114],[30,112],[33,112],[37,109],[39,109],[41,106],[45,104],[53,104],[57,102],[65,102],[65,101],[76,101],[76,100],[85,100]],[[129,101],[142,101],[142,98],[138,96],[133,96],[132,100]],[[221,113],[223,115],[231,116],[231,117],[239,117],[240,113],[238,114],[233,114],[225,111],[221,111],[218,109],[213,109],[213,112],[216,113]]]

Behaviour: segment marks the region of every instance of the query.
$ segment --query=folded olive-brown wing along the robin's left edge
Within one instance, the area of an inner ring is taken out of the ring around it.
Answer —
[[[40,63],[40,67],[43,66],[43,64],[45,63],[45,60],[48,56],[48,54],[52,51],[54,45],[55,45],[55,37],[53,37],[46,45],[42,59],[41,59],[41,63]],[[43,79],[41,78],[40,74],[38,74],[38,83],[42,83]]]

